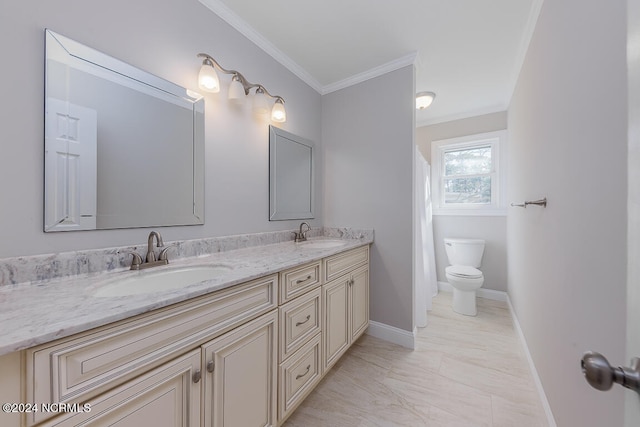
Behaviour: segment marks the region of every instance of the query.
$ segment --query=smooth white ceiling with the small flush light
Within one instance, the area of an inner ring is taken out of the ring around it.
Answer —
[[[416,65],[418,126],[504,111],[543,0],[200,0],[321,94]]]

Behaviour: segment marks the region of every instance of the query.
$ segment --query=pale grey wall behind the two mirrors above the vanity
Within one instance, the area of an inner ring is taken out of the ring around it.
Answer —
[[[42,232],[44,28],[191,89],[197,89],[201,63],[196,54],[209,53],[283,96],[287,122],[280,127],[314,141],[321,151],[321,96],[196,0],[12,0],[1,9],[0,258],[144,243],[149,232]],[[221,80],[228,84],[227,77]],[[299,224],[268,221],[269,123],[254,119],[250,102],[230,108],[227,84],[206,96],[205,225],[161,228],[165,240]],[[317,166],[322,170],[321,162]],[[318,184],[312,226],[322,224],[320,179]]]

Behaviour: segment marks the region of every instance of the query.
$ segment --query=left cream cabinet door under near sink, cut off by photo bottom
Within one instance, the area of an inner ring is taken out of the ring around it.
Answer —
[[[199,427],[201,363],[193,350],[38,426]]]

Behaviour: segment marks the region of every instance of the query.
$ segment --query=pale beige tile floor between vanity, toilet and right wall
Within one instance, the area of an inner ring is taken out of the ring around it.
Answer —
[[[284,427],[547,426],[505,302],[478,315],[441,292],[414,351],[364,335]]]

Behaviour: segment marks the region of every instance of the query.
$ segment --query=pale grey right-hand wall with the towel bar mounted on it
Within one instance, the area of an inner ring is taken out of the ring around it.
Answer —
[[[625,0],[546,1],[509,107],[509,294],[558,426],[621,426],[586,350],[625,360]],[[636,396],[637,400],[637,396]]]

